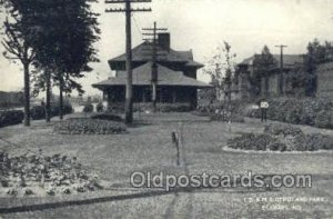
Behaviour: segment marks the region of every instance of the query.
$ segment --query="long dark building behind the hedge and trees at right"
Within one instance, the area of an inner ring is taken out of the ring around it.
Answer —
[[[271,68],[268,72],[268,82],[265,78],[261,78],[260,96],[261,97],[280,97],[280,56],[273,54],[276,67]],[[251,77],[253,76],[254,56],[245,59],[243,62],[238,64],[236,70],[236,87],[238,96],[236,99],[251,99],[253,89],[251,84]],[[293,80],[297,80],[297,77],[306,76],[303,68],[303,56],[302,54],[284,54],[283,56],[283,81],[282,89],[283,94],[291,97],[304,97],[305,87],[293,87]],[[333,62],[324,62],[316,66],[315,70],[315,83],[316,83],[316,97],[331,98],[333,97]]]

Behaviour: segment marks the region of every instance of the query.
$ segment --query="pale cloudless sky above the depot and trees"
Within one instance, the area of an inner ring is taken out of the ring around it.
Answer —
[[[124,14],[105,13],[110,7],[114,6],[101,0],[92,6],[101,13],[101,39],[95,43],[101,62],[90,64],[93,71],[80,80],[87,94],[101,93],[91,84],[112,77],[108,60],[125,50]],[[194,59],[202,63],[223,41],[231,44],[238,62],[260,53],[264,44],[272,53],[280,52],[276,44],[286,44],[284,53],[295,54],[304,53],[309,41],[315,38],[333,41],[333,0],[152,0],[132,7],[152,9],[152,12],[132,14],[133,47],[142,42],[141,29],[157,21],[159,27],[169,29],[172,49],[192,49]],[[4,17],[0,14],[0,21]],[[21,66],[2,54],[0,77],[0,90],[17,91],[23,87]],[[198,77],[209,81],[202,72]]]

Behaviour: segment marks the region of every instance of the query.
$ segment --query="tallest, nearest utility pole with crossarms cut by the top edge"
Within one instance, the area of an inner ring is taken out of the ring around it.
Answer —
[[[124,3],[125,8],[107,9],[105,12],[125,12],[125,36],[127,36],[127,86],[125,86],[125,122],[133,121],[133,86],[132,86],[132,32],[131,32],[131,13],[132,12],[149,12],[151,9],[138,8],[132,9],[131,3],[145,3],[151,0],[107,0],[105,3]]]

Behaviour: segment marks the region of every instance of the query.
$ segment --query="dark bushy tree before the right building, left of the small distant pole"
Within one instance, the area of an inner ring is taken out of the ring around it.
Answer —
[[[276,61],[271,54],[268,46],[264,46],[261,54],[255,54],[253,60],[252,87],[254,94],[269,94],[270,70],[276,67]],[[262,79],[264,79],[264,89],[262,90]]]

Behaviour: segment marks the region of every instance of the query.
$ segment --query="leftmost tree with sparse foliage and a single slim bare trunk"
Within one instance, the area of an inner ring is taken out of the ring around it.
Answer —
[[[34,61],[36,52],[31,44],[34,41],[36,26],[31,6],[27,1],[2,0],[1,7],[7,12],[3,22],[4,38],[3,56],[23,66],[24,74],[24,126],[30,126],[30,66]]]

